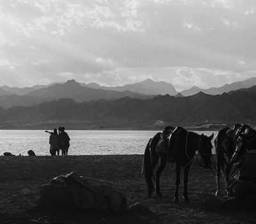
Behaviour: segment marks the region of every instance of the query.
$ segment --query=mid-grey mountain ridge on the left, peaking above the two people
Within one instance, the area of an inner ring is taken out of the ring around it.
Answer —
[[[14,106],[34,106],[41,102],[59,99],[73,99],[76,102],[84,102],[90,100],[113,100],[122,97],[148,99],[153,96],[134,93],[128,90],[118,92],[88,88],[74,80],[69,80],[67,83],[55,83],[49,86],[40,86],[40,88],[33,87],[25,95],[2,95],[0,96],[0,107],[6,109]]]

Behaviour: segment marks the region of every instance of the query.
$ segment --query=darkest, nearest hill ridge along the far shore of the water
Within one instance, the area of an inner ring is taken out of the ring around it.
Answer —
[[[204,122],[232,124],[255,122],[256,87],[222,95],[197,93],[189,97],[157,96],[152,99],[99,100],[78,103],[70,99],[0,111],[2,127],[44,127],[65,124],[72,128],[147,128],[163,124]],[[13,125],[13,126],[12,126]]]

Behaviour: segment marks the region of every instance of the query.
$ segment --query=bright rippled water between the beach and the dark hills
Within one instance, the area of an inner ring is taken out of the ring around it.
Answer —
[[[157,131],[67,131],[70,155],[143,154],[145,146]],[[204,131],[208,136],[214,131]],[[198,131],[198,133],[202,133]],[[214,137],[217,132],[214,132]],[[213,144],[212,144],[213,145]],[[38,156],[49,155],[49,134],[40,130],[0,130],[0,154],[12,152],[27,156],[28,150]],[[214,152],[214,148],[212,149]]]

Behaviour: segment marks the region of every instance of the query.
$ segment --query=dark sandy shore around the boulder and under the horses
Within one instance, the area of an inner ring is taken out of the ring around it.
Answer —
[[[159,223],[256,223],[256,215],[252,212],[235,215],[230,212],[205,211],[203,202],[214,195],[215,179],[211,170],[204,170],[196,162],[191,166],[189,175],[191,203],[172,202],[175,173],[171,163],[161,179],[163,198],[146,198],[144,179],[140,174],[142,159],[140,155],[0,157],[0,221],[33,223],[31,220],[42,216],[40,212],[30,212],[38,199],[40,185],[46,184],[56,175],[75,171],[79,175],[113,182],[127,197],[129,204],[143,203],[159,216]],[[59,223],[85,222],[76,221],[76,218],[72,220],[71,217]]]

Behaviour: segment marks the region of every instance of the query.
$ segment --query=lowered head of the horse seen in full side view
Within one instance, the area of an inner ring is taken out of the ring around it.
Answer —
[[[202,159],[204,160],[204,168],[211,167],[211,156],[212,156],[212,138],[214,134],[211,136],[205,136],[204,134],[200,135],[200,140],[198,143],[198,152]]]

